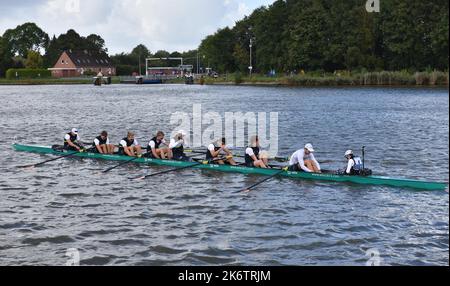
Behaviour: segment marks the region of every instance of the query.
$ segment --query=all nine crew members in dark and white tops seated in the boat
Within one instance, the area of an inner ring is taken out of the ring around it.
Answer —
[[[145,156],[154,159],[190,161],[191,158],[186,156],[184,153],[186,135],[186,132],[180,130],[173,138],[170,139],[170,143],[167,144],[164,139],[164,132],[158,131],[156,136],[153,137],[148,143],[147,153],[142,154],[142,147],[135,139],[135,134],[133,132],[128,132],[127,137],[123,138],[119,143],[118,154],[129,157]],[[65,135],[64,147],[65,149],[71,151],[83,152],[86,150],[81,143],[78,129],[74,128],[71,132]],[[110,144],[108,133],[103,131],[94,139],[90,149],[93,149],[93,152],[95,153],[114,154],[115,146]],[[322,173],[320,164],[314,156],[314,152],[315,150],[312,144],[306,144],[304,148],[296,151],[291,156],[288,170],[294,172]],[[347,175],[360,175],[364,172],[364,166],[361,158],[356,157],[353,154],[353,151],[348,150],[345,152],[345,158],[348,162],[347,167],[341,173]],[[226,145],[225,138],[221,138],[208,146],[206,160],[210,163],[215,162],[220,165],[238,165],[233,159],[233,153]],[[250,145],[245,150],[245,166],[264,169],[270,168],[269,153],[261,150],[258,136],[251,137]]]

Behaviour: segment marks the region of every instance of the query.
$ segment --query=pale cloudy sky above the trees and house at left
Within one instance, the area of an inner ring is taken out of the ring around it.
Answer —
[[[0,35],[34,22],[50,37],[74,29],[98,34],[110,54],[138,44],[150,51],[187,51],[207,35],[274,0],[0,0]]]

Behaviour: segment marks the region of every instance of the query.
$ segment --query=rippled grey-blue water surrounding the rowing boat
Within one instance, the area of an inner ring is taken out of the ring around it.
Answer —
[[[448,192],[274,179],[242,195],[261,177],[185,170],[131,182],[164,168],[99,175],[114,163],[78,159],[23,171],[51,157],[10,146],[60,143],[72,127],[85,140],[132,129],[147,141],[199,103],[279,112],[281,155],[312,142],[336,169],[366,145],[377,174],[448,182],[445,89],[0,86],[0,100],[0,265],[64,265],[70,248],[83,265],[365,265],[370,249],[385,265],[448,265]]]

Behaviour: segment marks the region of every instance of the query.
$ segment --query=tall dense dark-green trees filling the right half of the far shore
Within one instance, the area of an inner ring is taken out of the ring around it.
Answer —
[[[221,72],[448,70],[448,0],[278,0],[206,37]]]

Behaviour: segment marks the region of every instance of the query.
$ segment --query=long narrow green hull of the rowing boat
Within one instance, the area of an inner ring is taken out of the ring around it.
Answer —
[[[13,148],[16,151],[37,153],[37,154],[52,154],[52,155],[63,155],[64,152],[55,151],[51,147],[47,146],[30,146],[30,145],[20,145],[14,144]],[[98,153],[78,153],[74,157],[89,158],[89,159],[101,159],[108,161],[127,161],[130,157],[121,155],[104,155]],[[192,165],[192,162],[182,162],[182,161],[172,161],[172,160],[159,160],[152,158],[138,158],[133,163],[138,164],[148,164],[148,165],[159,165],[159,166],[170,166],[170,167],[187,167]],[[230,165],[216,165],[216,164],[201,164],[194,166],[196,169],[214,170],[220,172],[229,173],[241,173],[241,174],[256,174],[264,176],[273,176],[275,173],[280,172],[279,169],[259,169],[259,168],[248,168],[243,166],[230,166]],[[335,174],[311,174],[304,172],[291,172],[284,171],[279,174],[281,177],[295,178],[295,179],[305,179],[305,180],[319,180],[319,181],[333,181],[342,183],[354,183],[362,185],[384,185],[391,187],[406,187],[414,188],[418,190],[445,190],[447,188],[447,183],[442,182],[426,182],[418,180],[409,179],[397,179],[389,177],[379,177],[379,176],[345,176],[345,175],[335,175]]]

